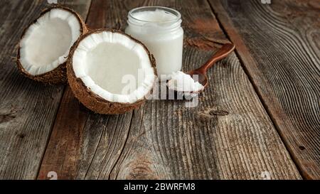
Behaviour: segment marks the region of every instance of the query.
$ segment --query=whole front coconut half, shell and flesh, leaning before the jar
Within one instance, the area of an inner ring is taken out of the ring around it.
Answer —
[[[68,82],[85,107],[122,114],[143,104],[156,81],[154,57],[141,42],[119,31],[99,29],[71,48]]]

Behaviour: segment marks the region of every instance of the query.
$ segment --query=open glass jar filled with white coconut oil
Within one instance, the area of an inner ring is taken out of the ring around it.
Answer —
[[[183,29],[181,14],[161,6],[132,9],[128,15],[126,33],[141,41],[156,59],[159,80],[170,79],[181,70]]]

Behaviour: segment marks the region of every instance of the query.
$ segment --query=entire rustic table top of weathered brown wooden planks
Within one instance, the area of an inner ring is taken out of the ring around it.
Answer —
[[[319,0],[59,1],[90,28],[126,26],[137,6],[177,9],[185,31],[183,70],[223,43],[236,52],[210,69],[196,108],[153,100],[106,116],[66,85],[18,73],[23,28],[46,1],[0,1],[0,178],[320,178]]]

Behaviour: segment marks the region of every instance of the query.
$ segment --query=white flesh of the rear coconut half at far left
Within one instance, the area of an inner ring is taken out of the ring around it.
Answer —
[[[77,16],[51,9],[26,30],[20,43],[20,62],[30,75],[41,75],[65,63],[71,46],[80,36]]]

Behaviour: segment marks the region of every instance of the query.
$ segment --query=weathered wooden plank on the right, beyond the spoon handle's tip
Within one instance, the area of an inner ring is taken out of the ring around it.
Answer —
[[[210,1],[304,178],[320,178],[319,1]]]

